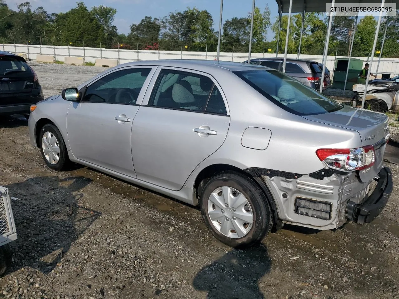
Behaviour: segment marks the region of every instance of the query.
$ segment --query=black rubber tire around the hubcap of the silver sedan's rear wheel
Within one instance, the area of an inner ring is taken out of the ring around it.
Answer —
[[[253,224],[249,232],[241,238],[230,238],[219,232],[208,215],[208,201],[211,193],[219,187],[231,187],[242,193],[253,211]],[[261,188],[249,177],[235,171],[223,171],[204,183],[200,195],[200,209],[207,228],[220,242],[233,248],[248,248],[265,238],[273,226],[269,202]]]

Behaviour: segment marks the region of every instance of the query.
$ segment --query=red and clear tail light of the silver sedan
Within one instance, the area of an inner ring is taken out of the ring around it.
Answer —
[[[355,149],[318,149],[316,155],[326,166],[340,171],[355,171],[375,163],[373,146]]]

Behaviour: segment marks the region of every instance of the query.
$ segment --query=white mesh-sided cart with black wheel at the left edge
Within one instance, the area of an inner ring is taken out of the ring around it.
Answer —
[[[8,243],[17,239],[8,189],[0,186],[0,277],[11,263]]]

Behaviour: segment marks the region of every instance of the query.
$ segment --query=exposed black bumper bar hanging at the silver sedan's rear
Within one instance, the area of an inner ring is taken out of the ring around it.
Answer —
[[[376,180],[377,187],[363,203],[348,201],[348,219],[357,224],[370,223],[385,208],[393,189],[391,169],[383,167]]]

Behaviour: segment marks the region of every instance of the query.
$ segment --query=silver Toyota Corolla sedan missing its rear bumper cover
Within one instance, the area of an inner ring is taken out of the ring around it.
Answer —
[[[73,161],[199,205],[212,234],[233,247],[283,223],[371,222],[393,187],[385,114],[260,65],[125,63],[31,110],[30,142],[49,168]]]

